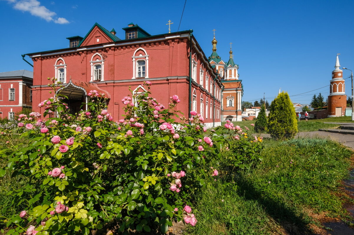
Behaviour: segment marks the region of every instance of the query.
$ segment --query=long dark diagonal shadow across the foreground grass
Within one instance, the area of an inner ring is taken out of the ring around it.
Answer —
[[[255,188],[252,182],[242,177],[237,181],[239,192],[244,199],[257,201],[264,211],[284,228],[287,234],[313,234],[308,229],[308,222],[301,215],[296,215],[296,212],[285,203],[267,197],[261,190]]]

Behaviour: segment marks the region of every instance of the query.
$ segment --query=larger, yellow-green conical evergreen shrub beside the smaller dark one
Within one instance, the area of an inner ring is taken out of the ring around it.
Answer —
[[[274,139],[292,139],[297,133],[295,108],[287,92],[281,92],[270,104],[267,131]]]

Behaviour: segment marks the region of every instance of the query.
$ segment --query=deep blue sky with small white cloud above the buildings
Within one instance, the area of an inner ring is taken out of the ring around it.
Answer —
[[[32,70],[21,54],[66,48],[66,37],[85,36],[95,22],[114,28],[120,38],[121,28],[130,22],[154,35],[168,32],[171,20],[171,30],[177,31],[183,5],[184,0],[0,0],[5,31],[0,37],[0,72]],[[226,61],[233,43],[243,101],[259,100],[263,92],[271,101],[281,88],[293,102],[309,103],[319,92],[328,96],[337,53],[341,66],[354,70],[353,17],[354,1],[187,0],[179,30],[193,29],[209,56],[216,29],[217,52]],[[350,71],[344,71],[344,78],[349,76]],[[347,95],[350,86],[349,78]],[[296,96],[303,92],[308,93]]]

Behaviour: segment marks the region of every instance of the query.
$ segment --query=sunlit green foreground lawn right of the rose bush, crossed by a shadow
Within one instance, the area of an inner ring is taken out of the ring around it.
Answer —
[[[337,187],[353,152],[326,139],[265,140],[263,162],[221,174],[199,192],[186,234],[306,234],[308,211],[344,216]],[[338,195],[338,194],[337,194]]]

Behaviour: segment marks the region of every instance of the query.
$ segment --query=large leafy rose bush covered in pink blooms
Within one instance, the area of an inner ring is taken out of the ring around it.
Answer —
[[[57,95],[39,104],[45,115],[57,118],[40,119],[38,113],[19,118],[23,125],[17,132],[29,141],[9,142],[2,151],[7,165],[0,170],[0,176],[25,180],[23,188],[8,193],[9,206],[16,203],[23,210],[7,218],[7,226],[17,226],[8,234],[87,235],[110,228],[124,234],[156,228],[165,233],[174,220],[197,223],[189,205],[205,179],[219,174],[212,164],[240,146],[256,154],[261,140],[247,139],[240,129],[239,139],[217,130],[206,136],[204,119],[196,112],[176,122],[178,96],[165,108],[149,96],[150,84],[144,84],[145,94],[122,99],[126,116],[117,123],[106,110],[105,95],[95,90],[88,94],[88,110],[77,116],[68,113],[67,97]],[[56,91],[57,85],[51,86]],[[1,133],[11,134],[8,129]],[[255,159],[238,155],[230,161],[240,165]]]

